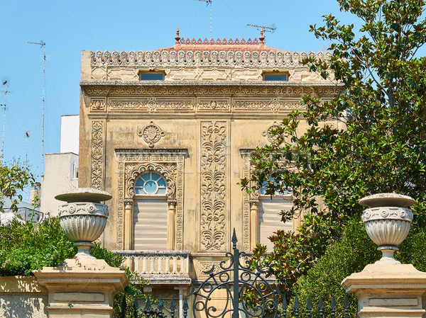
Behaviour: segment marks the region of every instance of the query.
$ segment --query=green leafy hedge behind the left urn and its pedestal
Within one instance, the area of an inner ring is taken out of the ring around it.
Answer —
[[[77,248],[65,237],[56,217],[44,220],[38,225],[16,219],[7,225],[0,225],[0,276],[30,276],[34,270],[59,266],[65,259],[72,259],[76,253]],[[140,288],[147,285],[148,281],[143,280],[138,273],[121,266],[123,256],[113,254],[97,242],[90,249],[90,254],[97,259],[104,259],[109,266],[120,267],[126,272],[129,285],[124,292],[114,296],[114,317],[121,317],[123,297],[126,297],[128,303],[133,302],[134,297],[143,298]],[[128,313],[130,314],[130,311]]]

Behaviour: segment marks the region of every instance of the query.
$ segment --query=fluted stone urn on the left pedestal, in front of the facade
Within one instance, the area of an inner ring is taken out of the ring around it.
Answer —
[[[56,200],[67,202],[60,205],[58,217],[65,236],[77,246],[77,259],[94,259],[89,249],[104,232],[109,214],[101,201],[111,198],[109,193],[94,188],[75,188],[55,196]]]

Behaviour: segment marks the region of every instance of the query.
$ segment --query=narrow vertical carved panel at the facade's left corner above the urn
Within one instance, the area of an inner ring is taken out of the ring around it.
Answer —
[[[92,121],[92,188],[104,188],[104,122]]]

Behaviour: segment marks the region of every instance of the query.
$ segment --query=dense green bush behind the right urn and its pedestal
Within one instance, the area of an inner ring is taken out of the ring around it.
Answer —
[[[426,232],[411,232],[401,244],[400,251],[395,253],[395,258],[401,263],[413,263],[420,271],[426,269]],[[351,273],[357,273],[370,263],[381,258],[381,252],[376,250],[376,244],[369,239],[364,225],[361,222],[349,222],[345,227],[342,237],[333,242],[324,256],[319,259],[305,276],[297,280],[295,294],[300,302],[305,303],[310,296],[313,303],[317,303],[320,295],[324,302],[330,304],[332,295],[336,296],[337,317],[343,317],[343,303],[345,291],[340,286],[342,280]],[[317,314],[317,307],[313,308]],[[326,316],[329,307],[325,307]],[[349,297],[349,315],[355,317],[357,301],[353,295]]]

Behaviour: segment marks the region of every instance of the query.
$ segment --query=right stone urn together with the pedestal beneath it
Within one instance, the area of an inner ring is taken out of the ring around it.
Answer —
[[[426,273],[411,264],[393,258],[410,229],[413,213],[407,207],[415,203],[410,197],[395,193],[370,195],[360,204],[371,207],[363,213],[367,234],[383,252],[380,261],[367,265],[342,282],[346,293],[358,299],[358,316],[422,317],[422,295],[426,293]]]

